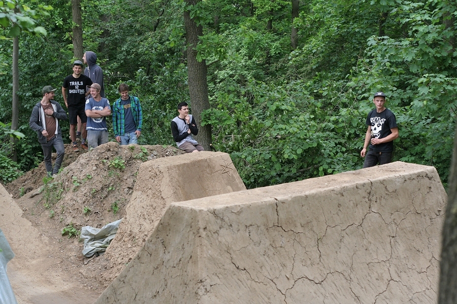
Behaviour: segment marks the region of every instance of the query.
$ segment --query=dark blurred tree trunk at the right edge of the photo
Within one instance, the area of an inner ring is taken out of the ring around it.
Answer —
[[[457,138],[453,151],[442,233],[438,304],[457,303]]]

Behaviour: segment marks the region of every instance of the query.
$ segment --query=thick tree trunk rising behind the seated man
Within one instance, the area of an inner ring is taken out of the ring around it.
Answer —
[[[185,0],[188,5],[195,5],[201,0]],[[184,11],[184,26],[186,29],[186,43],[187,43],[187,83],[189,86],[190,105],[192,107],[192,115],[197,122],[199,134],[197,141],[205,148],[211,151],[210,144],[211,126],[201,126],[202,111],[209,109],[208,99],[208,83],[207,83],[207,66],[206,60],[201,62],[197,60],[197,44],[199,36],[203,35],[202,25],[197,26],[197,23],[190,18],[190,12]]]

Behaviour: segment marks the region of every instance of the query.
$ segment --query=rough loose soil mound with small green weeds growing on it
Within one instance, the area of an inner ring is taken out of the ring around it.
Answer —
[[[23,211],[23,217],[54,246],[56,272],[84,288],[101,293],[118,268],[101,255],[85,258],[81,227],[101,228],[125,215],[140,165],[148,160],[183,154],[171,146],[127,145],[108,142],[91,151],[73,152],[66,145],[61,172],[46,180],[44,163],[4,185]],[[53,162],[55,155],[53,155]],[[67,231],[62,235],[62,231]],[[70,235],[69,235],[70,233]],[[52,268],[50,269],[52,271]],[[36,273],[30,268],[30,273]],[[75,290],[75,293],[78,291]]]

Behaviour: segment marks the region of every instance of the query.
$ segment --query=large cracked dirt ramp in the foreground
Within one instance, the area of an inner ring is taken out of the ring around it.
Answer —
[[[445,201],[396,162],[172,203],[95,303],[435,303]]]

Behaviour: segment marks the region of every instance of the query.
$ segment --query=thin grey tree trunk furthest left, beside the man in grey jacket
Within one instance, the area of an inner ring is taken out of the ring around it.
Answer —
[[[19,36],[13,37],[13,103],[11,116],[11,130],[17,130],[19,126]],[[10,137],[13,161],[17,162],[16,137]]]

